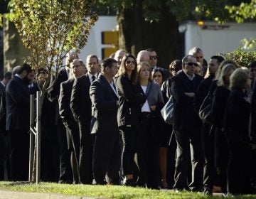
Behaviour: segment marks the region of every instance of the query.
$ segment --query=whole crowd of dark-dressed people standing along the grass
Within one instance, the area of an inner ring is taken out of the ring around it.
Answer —
[[[0,179],[28,181],[30,95],[46,83],[41,180],[255,193],[256,61],[240,66],[192,48],[169,70],[156,51],[117,50],[85,63],[70,50],[57,75],[23,63],[0,84]],[[38,80],[38,81],[36,81]],[[174,122],[161,109],[174,99]],[[210,120],[199,117],[206,99]]]

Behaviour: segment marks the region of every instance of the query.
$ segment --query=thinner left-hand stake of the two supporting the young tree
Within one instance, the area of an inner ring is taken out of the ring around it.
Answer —
[[[34,104],[34,95],[31,95],[31,109],[30,109],[30,135],[29,135],[29,173],[28,173],[28,181],[32,181],[33,175],[33,154],[35,149],[35,135],[33,133],[33,127],[35,126],[35,104]]]

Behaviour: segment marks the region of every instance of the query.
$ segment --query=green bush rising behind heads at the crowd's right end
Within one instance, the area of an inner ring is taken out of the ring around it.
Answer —
[[[220,53],[220,55],[223,55],[225,59],[234,60],[240,66],[247,67],[253,60],[256,60],[256,49],[245,51],[242,48],[238,48],[231,52]]]

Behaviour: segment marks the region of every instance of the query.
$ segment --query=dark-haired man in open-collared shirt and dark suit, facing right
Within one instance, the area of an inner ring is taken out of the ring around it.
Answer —
[[[95,134],[92,171],[97,184],[119,184],[121,154],[117,126],[118,97],[113,82],[117,70],[116,60],[112,58],[102,60],[102,74],[90,86],[91,133]]]

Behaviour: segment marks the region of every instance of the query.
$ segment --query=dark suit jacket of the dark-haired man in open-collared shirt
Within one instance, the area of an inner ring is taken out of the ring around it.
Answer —
[[[118,135],[117,105],[118,97],[104,75],[90,86],[92,101],[92,134]]]

